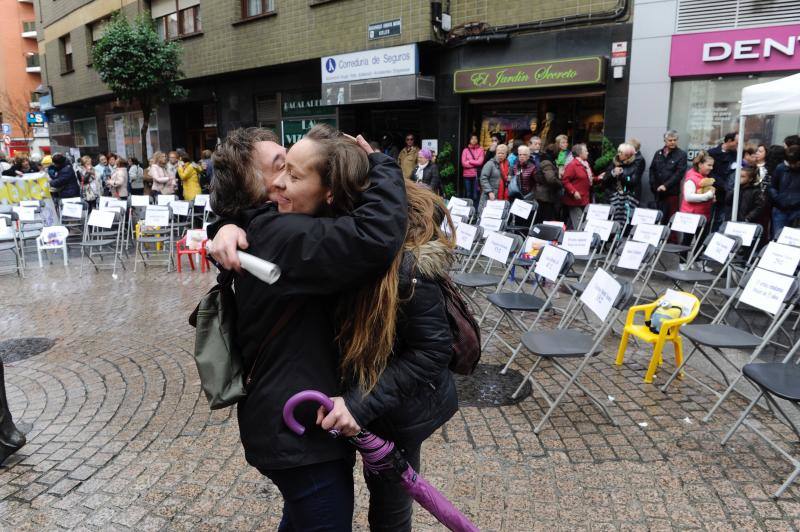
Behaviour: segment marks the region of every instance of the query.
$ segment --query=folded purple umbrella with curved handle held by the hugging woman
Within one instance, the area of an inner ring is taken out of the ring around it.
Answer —
[[[297,405],[306,401],[314,401],[328,411],[333,410],[333,401],[324,393],[315,390],[306,390],[290,397],[283,407],[283,422],[292,431],[301,436],[306,429],[294,418],[294,409]],[[329,432],[334,437],[339,436],[339,432],[336,430]],[[356,436],[348,438],[347,441],[361,453],[367,474],[383,475],[400,482],[420,506],[428,510],[431,515],[450,530],[456,532],[478,531],[478,527],[464,517],[453,506],[453,503],[448,501],[444,495],[414,471],[414,468],[408,464],[393,442],[386,441],[366,430],[362,430]]]

